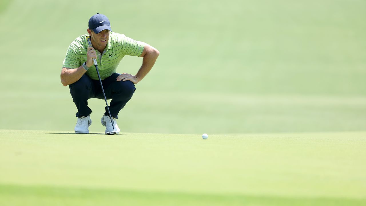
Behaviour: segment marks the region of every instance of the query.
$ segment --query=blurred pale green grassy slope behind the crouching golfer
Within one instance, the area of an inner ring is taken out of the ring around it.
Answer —
[[[120,112],[123,132],[366,129],[366,1],[25,1],[0,3],[0,129],[73,131],[60,71],[90,16],[160,51]],[[142,58],[125,56],[119,73]],[[89,100],[91,131],[104,101]]]

